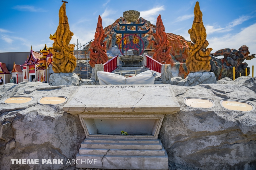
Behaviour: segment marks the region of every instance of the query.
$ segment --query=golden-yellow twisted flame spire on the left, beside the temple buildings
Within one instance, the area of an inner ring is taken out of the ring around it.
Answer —
[[[73,55],[74,44],[69,44],[73,32],[69,30],[68,17],[66,15],[66,3],[59,10],[59,25],[56,31],[56,39],[52,44],[52,70],[55,73],[73,72],[77,65],[77,59]]]

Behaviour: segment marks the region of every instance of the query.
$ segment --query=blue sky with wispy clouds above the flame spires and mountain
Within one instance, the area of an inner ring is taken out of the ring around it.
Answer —
[[[112,24],[126,10],[140,11],[141,17],[156,23],[161,14],[165,31],[182,35],[190,40],[188,29],[194,19],[196,1],[130,0],[130,1],[68,1],[66,12],[70,30],[74,33],[71,43],[81,45],[94,38],[98,15],[103,27]],[[55,33],[61,6],[58,1],[1,1],[0,2],[0,52],[39,51],[52,46],[50,33]],[[209,46],[212,52],[222,48],[238,49],[247,45],[251,54],[256,53],[256,1],[199,1],[203,13]],[[251,67],[256,58],[246,60]],[[256,73],[255,73],[256,74]]]

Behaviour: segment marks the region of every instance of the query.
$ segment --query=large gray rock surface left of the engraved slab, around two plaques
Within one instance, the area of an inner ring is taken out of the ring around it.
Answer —
[[[0,169],[62,169],[67,159],[75,159],[85,134],[78,115],[70,115],[60,105],[38,104],[42,96],[69,97],[78,87],[49,86],[22,82],[0,97]],[[3,92],[3,91],[1,91]],[[24,104],[4,104],[10,96],[33,96]],[[39,159],[38,165],[12,165],[10,159]],[[63,159],[63,165],[42,165],[41,159]]]

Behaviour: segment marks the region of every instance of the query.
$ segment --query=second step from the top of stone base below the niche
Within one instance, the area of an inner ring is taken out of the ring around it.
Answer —
[[[88,149],[142,149],[142,150],[161,150],[163,148],[161,141],[159,143],[95,143],[82,142],[81,148]]]

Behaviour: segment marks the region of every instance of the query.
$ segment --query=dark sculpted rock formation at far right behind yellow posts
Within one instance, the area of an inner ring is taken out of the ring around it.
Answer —
[[[251,60],[255,58],[255,54],[249,55],[249,48],[246,45],[241,46],[238,50],[225,48],[216,51],[211,54],[211,71],[214,72],[216,79],[220,80],[224,77],[229,77],[233,80],[233,67],[235,67],[235,78],[240,76],[245,76],[247,63],[243,63],[244,60]],[[224,56],[221,59],[216,57]],[[250,67],[247,68],[247,75],[250,74]]]

